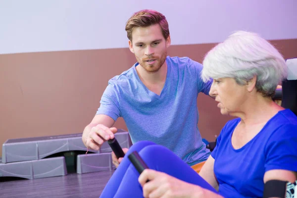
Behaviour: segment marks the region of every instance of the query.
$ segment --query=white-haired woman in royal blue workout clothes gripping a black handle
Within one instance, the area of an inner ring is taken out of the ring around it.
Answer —
[[[287,76],[282,55],[258,35],[236,32],[207,53],[201,75],[213,79],[209,94],[221,113],[236,118],[222,129],[199,175],[167,148],[139,142],[102,198],[262,197],[267,181],[296,181],[297,116],[272,100]],[[141,175],[128,159],[134,150],[149,167]]]

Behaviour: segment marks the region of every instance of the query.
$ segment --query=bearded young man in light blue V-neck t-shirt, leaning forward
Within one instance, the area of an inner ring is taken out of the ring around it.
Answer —
[[[132,143],[149,140],[163,145],[198,172],[210,151],[197,127],[197,97],[200,92],[208,95],[212,82],[200,79],[200,63],[167,56],[171,40],[161,13],[136,12],[127,21],[126,31],[137,63],[109,80],[97,114],[83,132],[84,144],[98,150],[114,137],[117,129],[111,127],[123,117]],[[112,159],[116,167],[122,160],[114,153]]]

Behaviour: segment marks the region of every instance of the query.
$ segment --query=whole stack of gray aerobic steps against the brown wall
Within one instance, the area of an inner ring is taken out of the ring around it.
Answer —
[[[129,133],[119,129],[115,138],[122,148],[130,148]],[[8,139],[2,145],[0,177],[20,177],[37,179],[67,175],[64,156],[54,156],[64,151],[86,151],[82,134]],[[88,155],[76,156],[77,173],[112,170],[111,148],[105,142],[97,150],[89,150]]]

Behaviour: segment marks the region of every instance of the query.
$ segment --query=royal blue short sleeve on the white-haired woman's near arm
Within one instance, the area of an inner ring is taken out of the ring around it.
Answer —
[[[297,171],[297,125],[286,124],[273,133],[265,147],[265,171]]]

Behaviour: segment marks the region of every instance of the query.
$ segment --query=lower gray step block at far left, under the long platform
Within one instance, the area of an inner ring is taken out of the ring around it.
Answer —
[[[67,175],[67,169],[63,156],[6,164],[0,163],[0,177],[38,179],[64,175]]]

